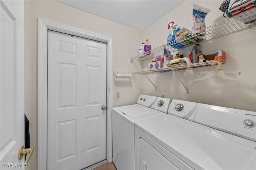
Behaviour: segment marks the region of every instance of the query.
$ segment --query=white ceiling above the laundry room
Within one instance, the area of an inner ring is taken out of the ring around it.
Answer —
[[[185,0],[56,0],[144,31]]]

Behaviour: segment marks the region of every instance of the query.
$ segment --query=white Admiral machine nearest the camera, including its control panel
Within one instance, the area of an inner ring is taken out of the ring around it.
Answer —
[[[256,170],[256,112],[172,100],[135,123],[135,169]]]

